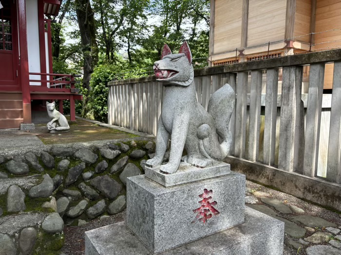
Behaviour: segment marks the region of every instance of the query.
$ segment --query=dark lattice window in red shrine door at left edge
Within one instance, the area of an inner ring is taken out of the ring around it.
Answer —
[[[1,2],[2,3],[2,2]],[[12,22],[9,2],[0,9],[0,50],[12,51]]]

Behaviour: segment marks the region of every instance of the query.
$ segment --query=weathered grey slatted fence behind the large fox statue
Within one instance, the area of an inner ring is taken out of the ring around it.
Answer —
[[[340,61],[338,49],[198,69],[194,72],[198,102],[207,109],[210,95],[228,83],[237,99],[230,121],[231,156],[338,184],[341,183]],[[323,95],[325,63],[334,63],[331,96]],[[310,74],[306,95],[302,94],[302,77],[303,66],[307,65]],[[279,68],[283,68],[282,94],[277,92]],[[108,86],[109,124],[155,135],[161,113],[162,84],[154,77],[144,77],[113,81]],[[341,190],[341,186],[337,187]],[[341,211],[341,197],[338,210]]]

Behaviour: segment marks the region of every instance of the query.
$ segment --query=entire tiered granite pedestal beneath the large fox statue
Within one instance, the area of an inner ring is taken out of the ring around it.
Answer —
[[[283,254],[284,223],[245,208],[245,175],[224,164],[128,178],[127,221],[86,232],[85,254]]]

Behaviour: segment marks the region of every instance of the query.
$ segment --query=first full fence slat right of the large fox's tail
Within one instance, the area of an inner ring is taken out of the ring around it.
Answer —
[[[234,155],[244,157],[246,139],[247,72],[237,74],[237,102]]]

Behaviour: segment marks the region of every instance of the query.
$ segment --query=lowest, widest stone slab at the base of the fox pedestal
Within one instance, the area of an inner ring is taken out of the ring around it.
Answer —
[[[246,207],[245,222],[162,255],[282,255],[284,223]],[[152,255],[125,221],[85,232],[85,255]]]

